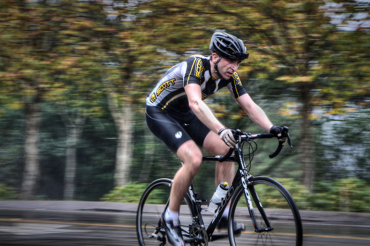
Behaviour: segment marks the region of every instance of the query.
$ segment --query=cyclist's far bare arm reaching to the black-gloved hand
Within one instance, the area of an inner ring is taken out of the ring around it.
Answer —
[[[247,112],[250,119],[255,122],[259,127],[264,129],[266,132],[270,132],[270,128],[273,126],[265,112],[260,108],[250,96],[244,94],[238,98],[236,101],[239,105]]]

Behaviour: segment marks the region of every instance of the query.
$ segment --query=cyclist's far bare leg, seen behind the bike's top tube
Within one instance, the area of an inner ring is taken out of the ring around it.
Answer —
[[[229,151],[229,147],[212,131],[204,139],[203,148],[210,151],[213,155],[225,155]],[[216,186],[225,181],[231,184],[234,176],[235,168],[233,162],[217,162],[215,174]]]

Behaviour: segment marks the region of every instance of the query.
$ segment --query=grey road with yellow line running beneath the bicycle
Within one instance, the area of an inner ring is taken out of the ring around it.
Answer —
[[[137,204],[0,201],[0,245],[138,245]],[[370,245],[370,214],[300,211],[307,246]],[[228,239],[210,246],[229,245]]]

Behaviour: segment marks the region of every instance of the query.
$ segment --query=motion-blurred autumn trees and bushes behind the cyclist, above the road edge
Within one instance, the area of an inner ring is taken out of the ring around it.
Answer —
[[[269,159],[276,142],[258,141],[250,173],[279,180],[300,209],[370,212],[369,10],[370,0],[2,0],[0,200],[137,202],[172,178],[180,163],[148,131],[145,96],[226,31],[250,53],[244,87],[294,147]],[[226,89],[207,103],[227,127],[263,133]],[[203,199],[214,167],[195,178]]]

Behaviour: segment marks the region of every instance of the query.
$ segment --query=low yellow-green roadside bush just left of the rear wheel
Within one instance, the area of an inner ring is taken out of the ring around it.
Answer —
[[[108,194],[105,194],[102,198],[100,198],[100,201],[138,203],[147,186],[148,184],[143,183],[128,183],[122,187],[115,187]]]

